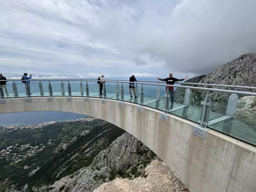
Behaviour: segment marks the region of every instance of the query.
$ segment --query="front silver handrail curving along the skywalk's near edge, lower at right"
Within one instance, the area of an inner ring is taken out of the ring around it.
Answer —
[[[5,80],[0,80],[5,81]],[[18,79],[12,79],[8,81],[21,81]],[[97,82],[98,80],[85,80],[85,79],[27,79],[22,81],[89,81],[89,82]],[[129,81],[110,81],[105,80],[104,82],[111,82],[111,83],[135,83],[135,82],[129,82]],[[250,95],[250,96],[256,96],[255,92],[244,92],[244,91],[233,91],[233,90],[225,90],[225,89],[214,89],[214,88],[204,88],[204,87],[191,87],[191,86],[184,86],[184,85],[168,85],[168,84],[155,84],[155,83],[141,83],[136,82],[137,84],[147,84],[147,85],[159,85],[159,86],[167,86],[167,87],[180,87],[180,88],[189,88],[189,89],[197,89],[197,90],[204,90],[204,91],[216,91],[216,92],[225,92],[225,93],[235,93],[235,94],[243,94],[243,95]]]

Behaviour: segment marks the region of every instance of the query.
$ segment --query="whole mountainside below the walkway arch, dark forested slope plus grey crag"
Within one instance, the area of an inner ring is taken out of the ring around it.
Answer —
[[[86,117],[0,127],[0,191],[89,192],[138,177],[156,155],[124,130]]]

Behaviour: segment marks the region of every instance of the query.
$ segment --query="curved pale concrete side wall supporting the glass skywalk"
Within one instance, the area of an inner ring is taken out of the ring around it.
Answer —
[[[184,183],[190,192],[255,192],[256,148],[209,130],[206,140],[192,134],[193,122],[169,115],[168,122],[159,119],[161,111],[137,105],[98,98],[45,97],[7,99],[0,113],[22,111],[67,111],[90,115],[108,121],[129,132],[154,151]]]

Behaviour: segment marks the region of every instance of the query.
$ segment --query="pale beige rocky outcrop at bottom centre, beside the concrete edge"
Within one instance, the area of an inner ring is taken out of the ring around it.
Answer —
[[[116,178],[102,184],[93,192],[180,192],[186,191],[185,186],[175,177],[164,162],[155,160],[148,165],[140,177],[134,180]]]

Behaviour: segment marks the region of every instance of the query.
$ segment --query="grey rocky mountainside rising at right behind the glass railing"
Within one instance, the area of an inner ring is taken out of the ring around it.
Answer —
[[[228,84],[228,85],[241,85],[241,86],[256,86],[256,54],[246,53],[235,60],[228,62],[227,64],[216,69],[211,74],[204,76],[198,83],[207,84]],[[204,86],[205,87],[205,86]],[[216,89],[234,90],[234,88],[228,87],[212,87]],[[236,88],[236,91],[251,91],[256,90],[244,90]],[[176,94],[177,92],[177,94]],[[184,98],[182,95],[178,95],[182,92],[180,88],[175,92],[175,102],[183,103]],[[185,92],[183,90],[183,92]],[[206,91],[191,90],[189,105],[194,107],[201,107],[201,101],[204,100]],[[242,98],[244,95],[238,95],[238,98]],[[183,95],[184,97],[184,95]],[[226,112],[228,104],[229,94],[222,92],[210,92],[210,98],[212,100],[212,110],[217,113]]]

